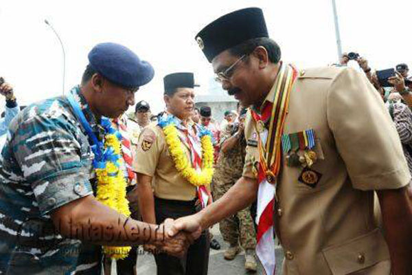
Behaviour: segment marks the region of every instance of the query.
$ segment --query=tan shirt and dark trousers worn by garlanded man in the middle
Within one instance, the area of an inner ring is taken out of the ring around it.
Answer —
[[[185,134],[178,131],[184,137]],[[190,146],[185,143],[185,138],[181,138],[181,141],[187,159],[190,159]],[[154,179],[152,186],[158,224],[166,218],[179,219],[196,213],[196,187],[176,170],[160,126],[149,124],[141,133],[133,166],[135,172]],[[155,260],[159,275],[206,275],[209,264],[209,231],[202,232],[190,245],[183,259],[159,253],[155,255]]]

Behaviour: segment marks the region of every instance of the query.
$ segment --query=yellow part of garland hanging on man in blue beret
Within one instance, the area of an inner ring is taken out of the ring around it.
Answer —
[[[121,144],[119,139],[114,134],[107,134],[104,136],[104,148],[112,147],[115,155],[121,155]],[[119,157],[117,162],[123,162],[123,158]],[[111,161],[106,162],[106,168],[96,168],[95,173],[98,179],[98,190],[96,199],[104,205],[124,214],[126,217],[130,216],[128,208],[128,200],[126,199],[126,179],[123,171]],[[103,252],[106,256],[113,259],[124,259],[128,256],[130,246],[113,247],[103,246]]]

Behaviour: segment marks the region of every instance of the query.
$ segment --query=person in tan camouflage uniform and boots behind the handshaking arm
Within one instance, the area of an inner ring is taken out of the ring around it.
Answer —
[[[243,133],[246,109],[242,109],[239,113],[241,114],[239,121],[227,124],[220,135],[221,151],[213,177],[214,199],[222,197],[242,177],[247,145]],[[256,232],[250,206],[220,221],[219,227],[223,239],[230,245],[225,252],[225,259],[233,260],[242,246],[246,252],[244,267],[249,271],[256,271],[254,255]]]

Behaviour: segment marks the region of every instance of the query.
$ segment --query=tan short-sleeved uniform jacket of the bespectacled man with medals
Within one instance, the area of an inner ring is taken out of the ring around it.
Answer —
[[[266,100],[273,100],[274,91]],[[253,123],[249,113],[246,177],[255,177],[259,159],[258,147],[251,145]],[[311,168],[321,178],[315,187],[302,184],[303,168],[286,166],[283,155],[274,219],[284,274],[389,274],[372,190],[402,188],[411,176],[379,94],[353,69],[301,71],[290,92],[284,133],[306,129],[315,132],[318,160]]]

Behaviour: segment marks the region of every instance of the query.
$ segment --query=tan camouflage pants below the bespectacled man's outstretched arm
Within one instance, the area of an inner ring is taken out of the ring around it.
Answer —
[[[234,182],[231,184],[222,184],[214,180],[214,200],[222,197],[233,184]],[[248,206],[233,216],[223,219],[219,223],[220,233],[223,239],[230,245],[240,243],[240,246],[242,246],[244,250],[254,250],[256,246],[256,232],[250,208],[251,207]]]

